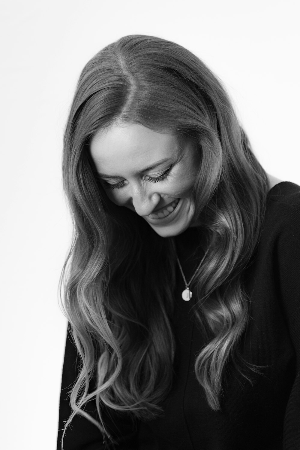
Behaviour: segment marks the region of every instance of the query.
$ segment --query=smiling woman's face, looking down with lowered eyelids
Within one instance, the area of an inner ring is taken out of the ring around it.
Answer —
[[[178,151],[175,135],[136,123],[115,124],[92,139],[91,156],[107,196],[142,216],[162,237],[192,225],[199,156]]]

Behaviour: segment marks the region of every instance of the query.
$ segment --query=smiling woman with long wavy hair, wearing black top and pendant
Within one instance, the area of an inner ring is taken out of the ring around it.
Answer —
[[[63,180],[57,448],[300,448],[300,187],[265,173],[216,76],[163,39],[108,45]]]

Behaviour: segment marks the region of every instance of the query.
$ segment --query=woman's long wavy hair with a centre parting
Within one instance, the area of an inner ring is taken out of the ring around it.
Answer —
[[[90,156],[93,136],[116,121],[174,133],[182,151],[183,143],[193,143],[201,157],[193,196],[209,252],[195,277],[195,316],[211,337],[194,369],[212,410],[220,409],[229,361],[245,377],[243,364],[256,370],[238,349],[249,318],[243,270],[260,238],[267,175],[224,87],[199,58],[158,37],[122,37],[84,67],[64,135],[63,185],[74,236],[60,289],[80,368],[63,436],[75,414],[109,436],[103,407],[153,418],[172,387],[173,239],[111,202]],[[84,411],[94,397],[99,421]]]

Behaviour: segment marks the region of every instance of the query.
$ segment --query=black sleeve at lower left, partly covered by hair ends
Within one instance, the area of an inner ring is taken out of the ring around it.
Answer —
[[[59,422],[57,435],[57,450],[61,450],[61,439],[64,424],[71,414],[71,406],[69,403],[69,395],[71,387],[74,385],[78,375],[77,364],[79,355],[77,349],[72,342],[70,328],[68,326],[66,337],[65,357],[62,369],[62,389],[59,403]],[[89,401],[84,408],[88,414],[92,415],[96,420],[96,401]],[[137,449],[136,434],[132,420],[125,417],[124,414],[114,414],[109,418],[105,417],[105,422],[111,434],[118,440],[118,450],[135,450]],[[66,435],[63,440],[64,450],[108,450],[114,448],[108,444],[103,444],[103,436],[99,429],[88,419],[78,414],[75,415],[71,425],[66,429]]]

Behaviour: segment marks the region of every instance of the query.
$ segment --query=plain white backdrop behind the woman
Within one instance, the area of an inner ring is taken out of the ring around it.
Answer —
[[[84,64],[128,34],[160,36],[185,46],[224,81],[265,169],[300,184],[296,4],[296,0],[3,2],[3,449],[56,449],[66,338],[57,285],[71,238],[62,193],[62,134]]]

